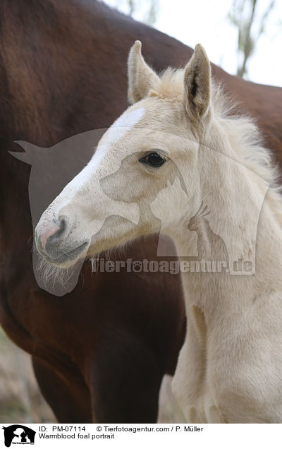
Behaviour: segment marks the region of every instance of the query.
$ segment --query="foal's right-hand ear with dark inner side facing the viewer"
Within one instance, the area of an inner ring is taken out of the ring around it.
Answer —
[[[207,114],[211,90],[211,64],[201,44],[185,68],[185,107],[189,116],[197,119]]]

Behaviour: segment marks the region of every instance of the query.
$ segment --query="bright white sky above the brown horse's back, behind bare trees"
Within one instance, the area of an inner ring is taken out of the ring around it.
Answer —
[[[127,12],[126,0],[104,0],[110,6]],[[265,11],[270,0],[258,0],[257,13]],[[226,18],[232,0],[159,0],[157,23],[154,28],[176,37],[190,47],[200,42],[209,59],[229,73],[237,67],[237,31]],[[134,18],[142,20],[147,1],[140,0]],[[248,79],[256,83],[282,87],[282,0],[276,0],[259,37],[255,53],[248,63]]]

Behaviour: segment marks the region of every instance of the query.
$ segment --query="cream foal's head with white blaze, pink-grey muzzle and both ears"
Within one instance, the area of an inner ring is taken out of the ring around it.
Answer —
[[[159,231],[150,205],[164,189],[161,228],[168,234],[199,204],[198,151],[200,143],[209,145],[213,116],[204,49],[198,44],[184,70],[168,69],[159,77],[136,41],[128,80],[132,105],[37,224],[37,249],[55,265],[69,267],[79,258]]]

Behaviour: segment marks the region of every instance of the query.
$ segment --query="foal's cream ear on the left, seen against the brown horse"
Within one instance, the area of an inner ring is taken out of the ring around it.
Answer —
[[[158,84],[159,76],[145,63],[141,42],[136,40],[128,56],[128,101],[133,104],[142,100]]]

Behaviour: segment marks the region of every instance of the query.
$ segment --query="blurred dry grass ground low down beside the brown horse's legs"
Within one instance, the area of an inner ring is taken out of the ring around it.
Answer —
[[[159,423],[183,422],[165,376],[159,400]],[[56,422],[35,380],[29,354],[6,337],[0,328],[0,423]]]

